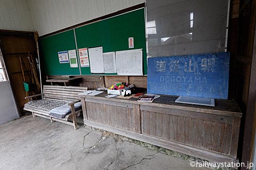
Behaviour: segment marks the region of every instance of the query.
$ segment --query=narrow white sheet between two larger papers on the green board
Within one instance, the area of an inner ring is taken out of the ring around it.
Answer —
[[[115,52],[103,53],[103,63],[105,73],[116,73]]]

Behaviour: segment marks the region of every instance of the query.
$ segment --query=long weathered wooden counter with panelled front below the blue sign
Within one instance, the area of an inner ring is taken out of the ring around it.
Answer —
[[[84,124],[178,151],[210,162],[234,162],[242,113],[236,101],[215,107],[174,103],[161,95],[153,103],[136,98],[81,96]]]

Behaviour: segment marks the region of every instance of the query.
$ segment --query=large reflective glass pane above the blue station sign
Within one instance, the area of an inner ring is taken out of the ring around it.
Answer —
[[[152,57],[225,52],[228,0],[147,0]]]

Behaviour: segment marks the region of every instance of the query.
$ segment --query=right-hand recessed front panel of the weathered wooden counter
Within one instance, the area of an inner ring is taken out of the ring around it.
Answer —
[[[141,111],[141,132],[184,145],[230,155],[232,124]]]

